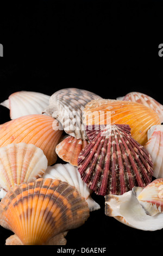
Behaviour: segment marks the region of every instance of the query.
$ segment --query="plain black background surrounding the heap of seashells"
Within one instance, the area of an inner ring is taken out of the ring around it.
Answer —
[[[52,95],[61,88],[90,90],[106,99],[142,92],[163,104],[162,1],[22,1],[1,3],[0,101],[29,90]],[[0,106],[0,122],[10,120]],[[59,160],[58,160],[59,162]],[[101,210],[68,232],[68,248],[106,247],[129,253],[160,246],[163,231],[127,227]],[[0,228],[0,245],[12,234]],[[126,251],[127,250],[127,251]]]

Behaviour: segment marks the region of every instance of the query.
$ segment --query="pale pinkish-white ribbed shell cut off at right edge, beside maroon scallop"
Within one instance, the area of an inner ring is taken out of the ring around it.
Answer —
[[[154,125],[148,130],[145,148],[153,161],[153,176],[163,178],[163,125]]]

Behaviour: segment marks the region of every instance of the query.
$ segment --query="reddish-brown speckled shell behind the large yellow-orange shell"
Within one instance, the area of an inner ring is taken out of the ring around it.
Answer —
[[[131,92],[120,99],[141,103],[142,105],[153,109],[159,115],[160,122],[163,122],[163,105],[154,100],[152,97],[139,92]]]

